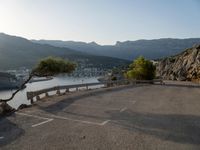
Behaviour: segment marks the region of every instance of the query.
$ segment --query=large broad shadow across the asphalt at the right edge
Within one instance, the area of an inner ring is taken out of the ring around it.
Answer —
[[[178,143],[200,145],[200,116],[138,113],[130,110],[107,112],[114,124],[129,131],[139,131]]]

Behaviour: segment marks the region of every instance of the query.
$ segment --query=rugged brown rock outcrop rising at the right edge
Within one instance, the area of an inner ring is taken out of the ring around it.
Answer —
[[[179,55],[162,59],[157,64],[157,75],[167,80],[200,81],[200,45]]]

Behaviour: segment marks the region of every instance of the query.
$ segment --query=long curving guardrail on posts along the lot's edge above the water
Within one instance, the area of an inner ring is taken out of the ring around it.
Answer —
[[[40,95],[45,94],[45,96],[49,96],[48,92],[56,91],[56,94],[60,95],[60,90],[65,90],[65,93],[69,92],[70,89],[76,89],[76,91],[79,90],[79,88],[85,87],[86,90],[89,89],[91,86],[97,86],[97,85],[104,85],[104,87],[112,87],[115,85],[127,85],[127,84],[138,84],[138,83],[161,83],[164,84],[163,80],[156,79],[156,80],[116,80],[116,81],[105,81],[105,82],[97,82],[97,83],[85,83],[85,84],[75,84],[75,85],[63,85],[63,86],[55,86],[51,88],[46,88],[38,91],[30,91],[27,92],[27,99],[31,100],[31,103],[33,103],[33,98],[36,97],[37,100],[40,100]]]

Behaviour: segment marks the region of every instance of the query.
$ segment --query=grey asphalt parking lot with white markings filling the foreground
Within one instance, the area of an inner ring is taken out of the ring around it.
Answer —
[[[0,119],[0,149],[200,149],[200,88],[137,85],[45,98]]]

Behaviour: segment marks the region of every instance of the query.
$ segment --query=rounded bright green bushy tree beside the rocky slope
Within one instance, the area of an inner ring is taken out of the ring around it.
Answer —
[[[155,78],[156,67],[144,57],[138,57],[129,65],[125,76],[129,79],[152,80]]]

